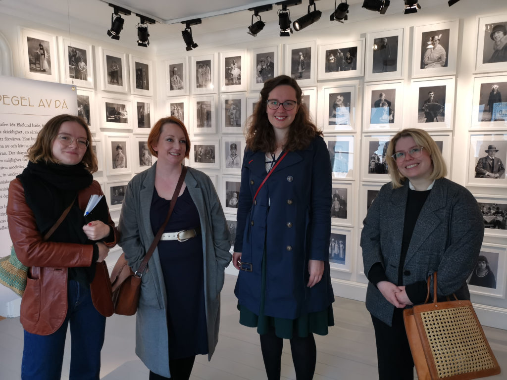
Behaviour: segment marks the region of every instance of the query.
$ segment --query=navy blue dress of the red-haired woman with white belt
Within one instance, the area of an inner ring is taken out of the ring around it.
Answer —
[[[164,222],[169,204],[170,201],[161,198],[154,188],[150,210],[153,234]],[[197,207],[185,188],[164,232],[189,230],[200,225]],[[167,293],[169,358],[207,354],[202,237],[199,234],[185,242],[161,240],[157,247]]]

